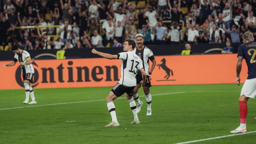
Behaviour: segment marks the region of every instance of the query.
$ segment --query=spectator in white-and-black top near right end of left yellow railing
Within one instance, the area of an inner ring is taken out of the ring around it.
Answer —
[[[70,37],[71,31],[72,31],[72,27],[71,25],[69,25],[68,19],[65,19],[64,24],[60,25],[59,28],[60,28],[60,38],[62,42],[65,43],[65,41]]]

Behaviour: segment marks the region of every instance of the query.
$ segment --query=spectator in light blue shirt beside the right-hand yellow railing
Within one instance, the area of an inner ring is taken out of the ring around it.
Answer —
[[[159,45],[165,44],[165,40],[168,32],[166,27],[163,27],[163,24],[161,21],[157,22],[157,24],[155,25],[155,31],[156,31],[157,44]]]

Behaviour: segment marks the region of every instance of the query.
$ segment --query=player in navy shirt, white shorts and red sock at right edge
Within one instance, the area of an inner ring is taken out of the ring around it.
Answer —
[[[247,118],[247,101],[248,99],[254,98],[256,95],[256,43],[251,32],[245,32],[243,34],[244,44],[238,47],[238,60],[236,65],[236,84],[240,85],[240,72],[242,69],[242,61],[245,59],[248,67],[248,77],[244,82],[239,97],[239,115],[240,115],[240,126],[235,130],[230,131],[231,133],[245,133],[246,129],[246,118]]]

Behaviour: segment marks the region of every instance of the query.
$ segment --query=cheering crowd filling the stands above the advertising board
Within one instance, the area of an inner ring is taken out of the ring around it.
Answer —
[[[256,0],[0,0],[0,45],[121,47],[138,33],[145,45],[239,43],[246,31],[256,37],[255,6]]]

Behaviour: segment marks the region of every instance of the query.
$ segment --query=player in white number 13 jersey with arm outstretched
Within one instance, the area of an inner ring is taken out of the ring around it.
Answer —
[[[116,111],[114,100],[126,93],[126,98],[130,104],[132,109],[132,113],[134,116],[133,124],[140,124],[139,118],[136,112],[136,103],[132,98],[134,94],[134,87],[136,86],[136,74],[138,70],[142,73],[142,81],[140,83],[142,85],[145,84],[146,79],[146,72],[143,69],[141,59],[132,51],[136,47],[136,42],[133,39],[126,39],[123,45],[123,50],[125,52],[119,53],[118,55],[110,55],[96,51],[95,49],[92,50],[93,54],[97,54],[106,59],[121,59],[121,78],[120,81],[112,88],[109,92],[106,102],[108,106],[108,111],[112,117],[112,122],[106,127],[109,126],[119,126],[119,123],[116,118]]]

